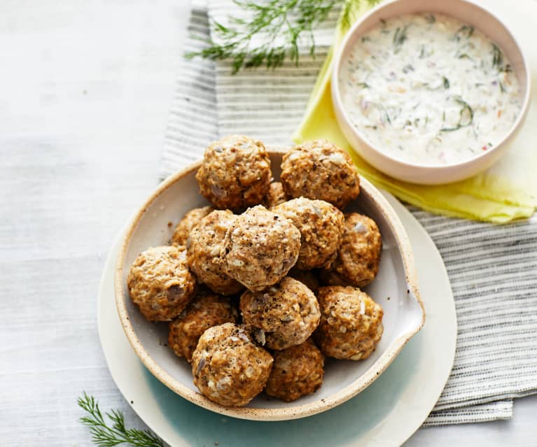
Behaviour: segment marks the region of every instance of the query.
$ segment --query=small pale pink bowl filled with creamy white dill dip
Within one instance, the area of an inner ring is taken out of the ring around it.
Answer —
[[[362,17],[335,59],[332,97],[351,146],[411,183],[463,180],[508,149],[530,76],[510,31],[466,0],[396,0]]]

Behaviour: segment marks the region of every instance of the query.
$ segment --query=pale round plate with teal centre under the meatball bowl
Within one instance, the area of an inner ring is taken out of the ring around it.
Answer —
[[[433,241],[406,208],[385,195],[412,243],[426,325],[359,395],[335,409],[298,420],[259,422],[222,416],[191,404],[154,378],[132,350],[116,312],[116,242],[99,289],[99,336],[113,380],[148,427],[171,446],[403,444],[433,409],[452,369],[456,314],[445,266]]]

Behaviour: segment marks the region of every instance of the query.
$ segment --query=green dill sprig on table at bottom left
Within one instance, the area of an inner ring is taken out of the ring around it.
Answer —
[[[110,420],[107,422],[95,397],[86,392],[82,397],[78,397],[78,406],[88,413],[81,417],[80,421],[90,427],[92,441],[99,447],[114,447],[121,444],[134,447],[165,447],[164,441],[153,432],[125,427],[125,418],[119,410],[104,413]]]

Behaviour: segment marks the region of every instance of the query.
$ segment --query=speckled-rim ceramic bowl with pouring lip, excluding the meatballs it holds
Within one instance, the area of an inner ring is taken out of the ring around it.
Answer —
[[[274,178],[279,178],[281,155],[270,152]],[[236,418],[286,420],[311,416],[347,401],[382,374],[405,343],[424,325],[425,312],[417,288],[414,258],[405,229],[393,208],[375,187],[362,179],[361,193],[347,210],[373,218],[382,233],[379,274],[367,291],[384,308],[384,334],[367,360],[350,362],[327,359],[322,387],[295,402],[259,395],[243,408],[228,408],[209,401],[193,384],[190,365],[176,357],[167,344],[167,323],[148,322],[132,303],[127,291],[130,265],[141,251],[166,245],[179,219],[207,201],[198,192],[193,164],[163,182],[141,206],[127,227],[116,265],[116,304],[127,339],[141,362],[168,388],[204,409]],[[172,225],[169,225],[172,222]]]

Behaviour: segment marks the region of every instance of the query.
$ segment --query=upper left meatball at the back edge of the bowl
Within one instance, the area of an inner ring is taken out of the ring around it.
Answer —
[[[233,211],[260,204],[271,178],[270,158],[263,143],[241,135],[209,144],[196,173],[202,195],[216,208]]]

